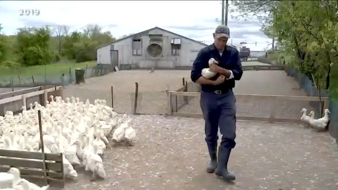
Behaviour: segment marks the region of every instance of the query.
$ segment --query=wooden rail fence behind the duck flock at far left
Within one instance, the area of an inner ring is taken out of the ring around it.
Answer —
[[[33,92],[32,92],[33,91]],[[19,100],[22,101],[22,105],[27,108],[27,98],[39,96],[39,102],[41,105],[46,105],[46,101],[49,96],[63,96],[63,87],[62,86],[39,86],[33,88],[27,88],[12,92],[6,92],[0,94],[0,115],[5,114],[5,106],[10,106],[10,104],[15,104]],[[19,110],[10,110],[15,114],[22,112],[21,106]]]

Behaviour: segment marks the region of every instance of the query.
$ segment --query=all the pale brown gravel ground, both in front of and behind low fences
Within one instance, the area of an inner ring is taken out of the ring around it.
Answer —
[[[142,95],[138,112],[159,114],[166,109],[165,91],[182,87],[182,77],[189,76],[188,70],[120,71],[86,79],[86,84],[70,85],[64,96],[92,102],[100,98],[111,105],[113,86],[115,109],[130,113],[135,82],[139,82]],[[285,80],[291,78],[283,71],[245,71],[235,92],[301,95],[301,91],[291,88],[292,82]],[[103,161],[107,179],[91,183],[90,174],[78,170],[79,179],[67,183],[65,189],[337,189],[337,146],[327,133],[315,133],[291,123],[238,121],[237,147],[229,164],[237,180],[227,184],[204,172],[209,158],[202,119],[130,117],[137,130],[135,146],[116,145],[106,151]]]

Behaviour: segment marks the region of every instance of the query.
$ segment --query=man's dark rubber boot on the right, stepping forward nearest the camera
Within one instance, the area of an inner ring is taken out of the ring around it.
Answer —
[[[227,165],[230,157],[231,149],[218,148],[218,165],[215,174],[222,177],[225,181],[236,180],[236,176],[228,172]]]

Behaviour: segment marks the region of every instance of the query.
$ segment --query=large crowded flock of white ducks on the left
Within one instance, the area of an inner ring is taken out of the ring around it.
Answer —
[[[82,165],[86,171],[93,172],[91,181],[97,176],[105,179],[101,156],[106,148],[111,148],[110,140],[132,145],[136,132],[130,125],[131,120],[126,115],[120,118],[105,100],[96,99],[91,104],[89,100],[83,103],[75,97],[66,98],[66,102],[59,96],[55,99],[50,96],[50,99],[46,106],[34,102],[34,109],[30,104],[30,109],[23,106],[19,115],[8,111],[4,117],[0,116],[0,149],[41,152],[40,110],[44,151],[62,153],[65,176],[75,179],[78,175],[74,166]],[[7,173],[14,176],[13,189],[48,189],[48,186],[40,188],[20,179],[17,168]]]

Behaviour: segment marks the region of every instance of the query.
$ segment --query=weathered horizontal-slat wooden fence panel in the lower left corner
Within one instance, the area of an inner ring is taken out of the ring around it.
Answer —
[[[62,154],[45,153],[45,162],[40,152],[0,149],[0,172],[10,167],[20,170],[21,177],[30,182],[45,182],[51,186],[64,187]]]

